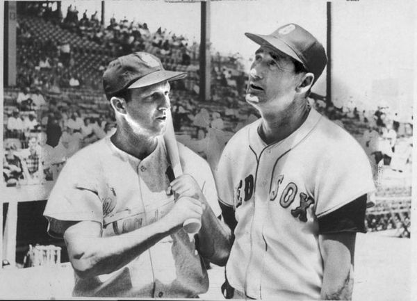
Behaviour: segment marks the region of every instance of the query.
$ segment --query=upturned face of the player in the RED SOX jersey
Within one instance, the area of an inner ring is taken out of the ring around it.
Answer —
[[[246,100],[256,108],[283,111],[294,99],[298,76],[293,60],[279,51],[262,46],[255,52]]]

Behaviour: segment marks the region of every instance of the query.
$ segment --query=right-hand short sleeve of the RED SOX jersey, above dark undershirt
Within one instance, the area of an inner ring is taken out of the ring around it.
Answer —
[[[314,195],[320,218],[375,190],[370,161],[356,141],[329,149],[316,170]]]

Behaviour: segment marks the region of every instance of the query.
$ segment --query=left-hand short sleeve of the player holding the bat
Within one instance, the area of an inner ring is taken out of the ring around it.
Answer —
[[[67,161],[44,210],[44,216],[49,221],[49,234],[62,236],[67,222],[103,222],[97,174],[99,170],[94,172],[94,168],[85,160],[71,158]]]

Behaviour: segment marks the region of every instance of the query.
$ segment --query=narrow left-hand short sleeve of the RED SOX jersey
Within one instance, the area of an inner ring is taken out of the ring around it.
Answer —
[[[234,206],[233,179],[231,178],[232,157],[229,154],[230,143],[231,141],[224,148],[218,167],[214,172],[218,200],[226,206]]]

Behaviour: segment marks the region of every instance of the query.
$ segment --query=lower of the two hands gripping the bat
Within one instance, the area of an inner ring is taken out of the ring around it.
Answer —
[[[170,229],[182,227],[183,222],[190,218],[201,220],[205,204],[193,197],[179,197],[171,211],[163,217],[164,222]]]

